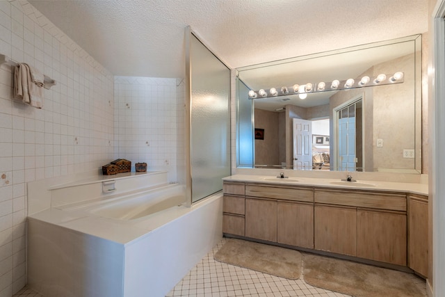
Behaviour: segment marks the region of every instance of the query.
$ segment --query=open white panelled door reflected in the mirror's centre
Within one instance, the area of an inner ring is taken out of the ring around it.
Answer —
[[[312,122],[292,119],[293,169],[312,169]]]

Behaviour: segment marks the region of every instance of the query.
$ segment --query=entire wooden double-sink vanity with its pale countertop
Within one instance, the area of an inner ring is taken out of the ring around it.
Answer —
[[[225,178],[224,234],[427,275],[426,184],[296,179]]]

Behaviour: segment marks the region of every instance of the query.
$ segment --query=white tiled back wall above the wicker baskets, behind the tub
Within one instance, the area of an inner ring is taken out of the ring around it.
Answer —
[[[184,83],[178,79],[115,77],[115,158],[168,170],[169,182],[184,183]],[[132,168],[134,170],[134,167]]]

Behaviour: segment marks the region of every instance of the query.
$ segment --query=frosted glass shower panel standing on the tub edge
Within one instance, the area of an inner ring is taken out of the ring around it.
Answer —
[[[190,62],[193,203],[222,190],[230,175],[230,70],[193,34]]]

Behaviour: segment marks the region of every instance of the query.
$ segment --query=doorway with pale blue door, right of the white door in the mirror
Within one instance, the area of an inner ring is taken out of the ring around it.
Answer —
[[[337,170],[359,171],[363,167],[362,97],[336,109]]]

